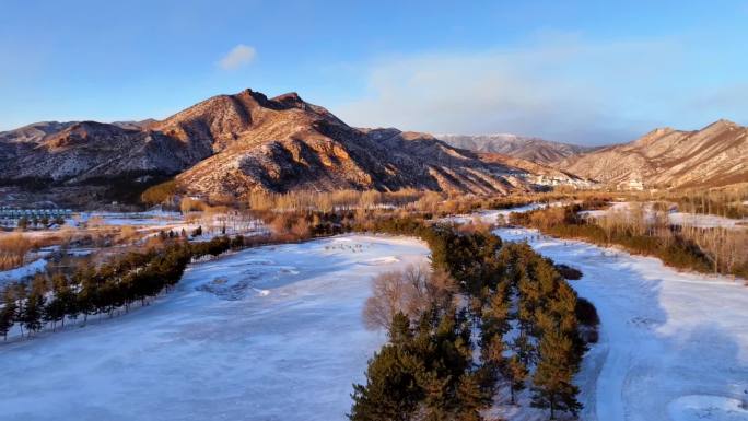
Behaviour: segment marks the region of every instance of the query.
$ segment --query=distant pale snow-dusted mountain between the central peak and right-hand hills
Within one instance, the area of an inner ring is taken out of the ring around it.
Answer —
[[[594,148],[507,133],[480,136],[436,135],[436,137],[456,148],[477,152],[501,153],[540,164],[550,164],[594,150]]]

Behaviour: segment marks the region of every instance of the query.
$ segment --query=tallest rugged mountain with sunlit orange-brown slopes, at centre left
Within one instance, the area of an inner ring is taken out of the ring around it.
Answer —
[[[484,163],[429,135],[350,127],[295,93],[217,96],[154,128],[212,141],[217,153],[177,176],[189,192],[418,188],[503,194],[527,188],[514,168]]]

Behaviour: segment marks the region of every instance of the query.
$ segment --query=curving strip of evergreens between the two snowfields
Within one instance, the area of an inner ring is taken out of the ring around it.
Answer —
[[[366,384],[354,385],[351,420],[478,421],[501,385],[512,402],[530,386],[533,405],[550,409],[551,418],[578,411],[572,377],[585,346],[577,299],[551,260],[526,244],[502,245],[489,232],[413,218],[366,229],[420,236],[433,268],[451,273],[466,300],[434,303],[416,319],[393,315],[389,341],[370,360]]]

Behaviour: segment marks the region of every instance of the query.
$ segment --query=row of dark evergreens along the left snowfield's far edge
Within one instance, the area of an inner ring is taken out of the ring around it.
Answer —
[[[175,285],[192,258],[218,256],[231,247],[244,245],[241,236],[215,237],[210,242],[188,243],[175,238],[162,249],[131,252],[97,268],[82,268],[71,276],[39,274],[31,284],[15,282],[2,291],[0,335],[7,338],[17,325],[21,335],[31,335],[50,324],[65,325],[90,315],[112,315],[118,308],[129,311],[133,303],[147,304],[163,290]]]

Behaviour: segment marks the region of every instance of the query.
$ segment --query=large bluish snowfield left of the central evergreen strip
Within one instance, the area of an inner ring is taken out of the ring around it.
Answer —
[[[0,420],[343,420],[385,340],[371,278],[428,253],[346,235],[192,265],[153,305],[0,344]]]

